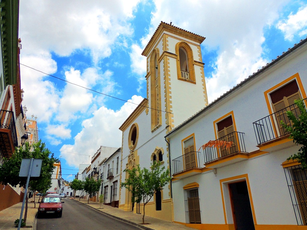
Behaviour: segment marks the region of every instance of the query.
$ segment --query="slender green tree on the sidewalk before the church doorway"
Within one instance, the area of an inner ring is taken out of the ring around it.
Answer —
[[[133,169],[124,170],[129,174],[129,177],[125,179],[125,182],[121,183],[121,187],[125,187],[133,194],[132,203],[138,203],[141,198],[143,199],[143,224],[145,224],[145,205],[150,201],[154,193],[162,190],[171,179],[169,169],[165,170],[164,166],[160,168],[160,164],[160,162],[154,162],[151,164],[150,170],[146,168],[141,170],[140,165]]]

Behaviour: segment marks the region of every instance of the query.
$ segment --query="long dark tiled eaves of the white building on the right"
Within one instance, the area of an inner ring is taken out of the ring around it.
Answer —
[[[221,101],[223,98],[225,98],[227,95],[231,94],[233,91],[235,91],[236,89],[238,89],[240,86],[243,86],[246,82],[250,81],[251,79],[255,78],[257,75],[259,75],[260,73],[262,73],[263,71],[265,71],[266,69],[268,69],[269,67],[273,66],[275,63],[277,63],[278,61],[280,61],[281,59],[283,59],[284,57],[286,57],[288,54],[290,54],[291,52],[293,52],[294,50],[296,50],[297,48],[301,47],[303,44],[305,44],[307,42],[307,36],[305,39],[300,40],[299,43],[296,43],[293,45],[292,48],[288,48],[287,51],[282,52],[282,55],[279,55],[276,57],[276,59],[272,59],[272,61],[270,63],[266,63],[265,66],[262,66],[261,69],[258,69],[257,72],[253,73],[252,75],[249,75],[248,78],[244,79],[242,82],[240,82],[239,84],[237,84],[236,86],[234,86],[232,89],[228,90],[226,93],[224,93],[222,96],[220,96],[219,98],[217,98],[216,100],[214,100],[213,102],[211,102],[209,105],[207,105],[206,107],[204,107],[203,109],[201,109],[200,111],[198,111],[197,113],[195,113],[192,117],[188,118],[187,120],[185,120],[184,122],[182,122],[180,125],[178,125],[177,127],[173,128],[171,131],[169,131],[165,138],[170,136],[171,134],[173,134],[174,132],[176,132],[179,128],[187,125],[189,122],[193,121],[194,119],[196,119],[198,116],[200,116],[204,111],[210,109],[213,105],[215,105],[217,102]]]

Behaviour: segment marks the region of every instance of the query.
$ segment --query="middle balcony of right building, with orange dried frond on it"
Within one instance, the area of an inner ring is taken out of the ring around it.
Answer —
[[[243,132],[231,132],[212,141],[212,146],[204,148],[205,167],[217,168],[246,159],[248,152],[243,135]]]

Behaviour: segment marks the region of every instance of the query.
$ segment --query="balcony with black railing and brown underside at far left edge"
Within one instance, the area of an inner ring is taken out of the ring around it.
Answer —
[[[10,157],[18,146],[14,113],[0,110],[0,161],[2,157]]]

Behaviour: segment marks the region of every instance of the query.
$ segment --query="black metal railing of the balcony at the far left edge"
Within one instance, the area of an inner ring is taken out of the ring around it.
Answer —
[[[1,121],[1,128],[10,129],[12,134],[12,140],[15,147],[18,146],[17,141],[17,132],[16,132],[16,125],[15,125],[15,118],[14,113],[8,110],[0,110],[0,121]]]

